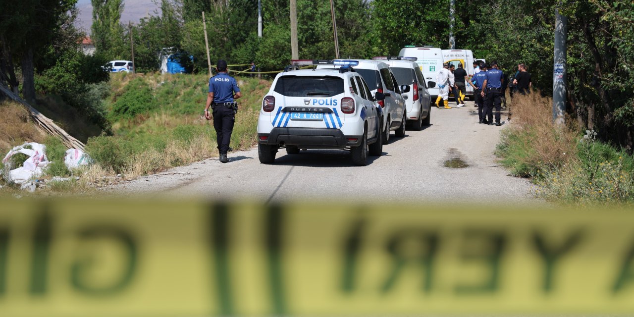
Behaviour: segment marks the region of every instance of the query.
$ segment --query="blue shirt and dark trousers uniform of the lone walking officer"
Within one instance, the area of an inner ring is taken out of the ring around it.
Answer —
[[[221,155],[229,152],[229,142],[235,122],[233,94],[239,91],[238,82],[226,73],[218,73],[209,79],[209,92],[214,93],[212,103],[214,129],[216,129],[216,141]]]

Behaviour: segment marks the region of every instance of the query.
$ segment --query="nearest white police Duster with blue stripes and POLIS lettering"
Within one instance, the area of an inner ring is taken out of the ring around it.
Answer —
[[[301,149],[349,149],[356,165],[367,156],[380,156],[380,108],[363,77],[354,71],[358,61],[292,60],[278,74],[262,100],[257,122],[261,163],[275,160],[279,148],[296,154]],[[301,70],[303,65],[339,65],[339,69]]]

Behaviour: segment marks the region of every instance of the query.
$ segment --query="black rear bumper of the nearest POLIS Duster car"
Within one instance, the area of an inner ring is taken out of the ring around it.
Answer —
[[[260,144],[300,148],[346,148],[361,144],[361,136],[346,136],[338,129],[298,127],[275,127],[271,133],[258,133],[257,140]]]

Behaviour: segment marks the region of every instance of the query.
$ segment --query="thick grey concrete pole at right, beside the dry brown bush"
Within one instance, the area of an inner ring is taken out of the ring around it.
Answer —
[[[566,113],[566,38],[568,18],[555,9],[555,58],[553,66],[553,122],[564,124]]]

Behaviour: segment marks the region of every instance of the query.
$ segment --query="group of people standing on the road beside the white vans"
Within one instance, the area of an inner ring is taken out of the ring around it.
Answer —
[[[483,61],[474,61],[474,75],[469,79],[467,71],[462,68],[462,64],[455,68],[454,65],[445,63],[436,75],[436,83],[440,90],[436,99],[436,107],[440,108],[440,101],[444,101],[444,108],[450,109],[449,92],[453,90],[456,99],[457,108],[463,107],[466,95],[465,81],[474,88],[475,107],[478,108],[478,117],[480,124],[488,124],[489,126],[501,126],[501,107],[506,107],[506,90],[511,86],[510,96],[513,97],[515,92],[520,94],[530,93],[532,82],[531,74],[527,71],[526,65],[517,65],[512,82],[508,76],[500,70],[497,61],[484,63]],[[495,107],[495,123],[493,121],[493,108]],[[510,120],[510,112],[508,119]]]

